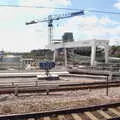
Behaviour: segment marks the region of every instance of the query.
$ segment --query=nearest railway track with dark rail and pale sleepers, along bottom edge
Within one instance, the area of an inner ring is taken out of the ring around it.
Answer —
[[[120,120],[120,103],[57,111],[1,115],[0,120]]]

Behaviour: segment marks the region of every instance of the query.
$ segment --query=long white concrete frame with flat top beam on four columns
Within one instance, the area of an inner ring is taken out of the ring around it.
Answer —
[[[65,55],[65,66],[67,67],[67,51],[66,48],[78,48],[78,47],[91,47],[91,65],[95,65],[96,57],[96,47],[102,47],[105,50],[105,63],[108,63],[108,50],[109,50],[109,40],[84,40],[84,41],[74,41],[59,44],[50,44],[47,46],[48,49],[54,51],[54,61],[56,56],[56,50],[59,48],[64,48]]]

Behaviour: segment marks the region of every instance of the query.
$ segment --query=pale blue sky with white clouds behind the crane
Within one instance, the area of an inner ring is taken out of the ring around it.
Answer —
[[[120,45],[120,14],[90,12],[90,10],[120,12],[120,0],[0,0],[0,5],[47,6],[85,10],[82,16],[54,21],[53,39],[61,39],[64,32],[73,32],[74,39],[110,40]],[[43,20],[48,15],[76,11],[30,7],[0,6],[0,50],[29,52],[43,49],[48,44],[48,23],[25,25],[32,20]]]

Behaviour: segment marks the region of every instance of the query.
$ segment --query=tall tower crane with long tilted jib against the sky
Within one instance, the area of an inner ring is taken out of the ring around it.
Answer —
[[[60,20],[65,18],[70,18],[78,15],[84,15],[84,11],[77,11],[67,14],[57,14],[57,15],[49,15],[48,18],[44,18],[43,20],[33,20],[31,22],[26,22],[26,25],[36,24],[39,22],[48,22],[48,44],[52,44],[52,36],[53,36],[53,21]]]

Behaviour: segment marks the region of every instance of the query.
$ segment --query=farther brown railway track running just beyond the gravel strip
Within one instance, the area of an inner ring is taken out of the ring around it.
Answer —
[[[43,84],[39,86],[2,86],[0,94],[19,94],[19,93],[35,93],[35,92],[59,92],[69,90],[84,90],[84,89],[102,89],[106,87],[119,87],[120,81],[95,82],[95,83],[74,83],[74,84]]]

